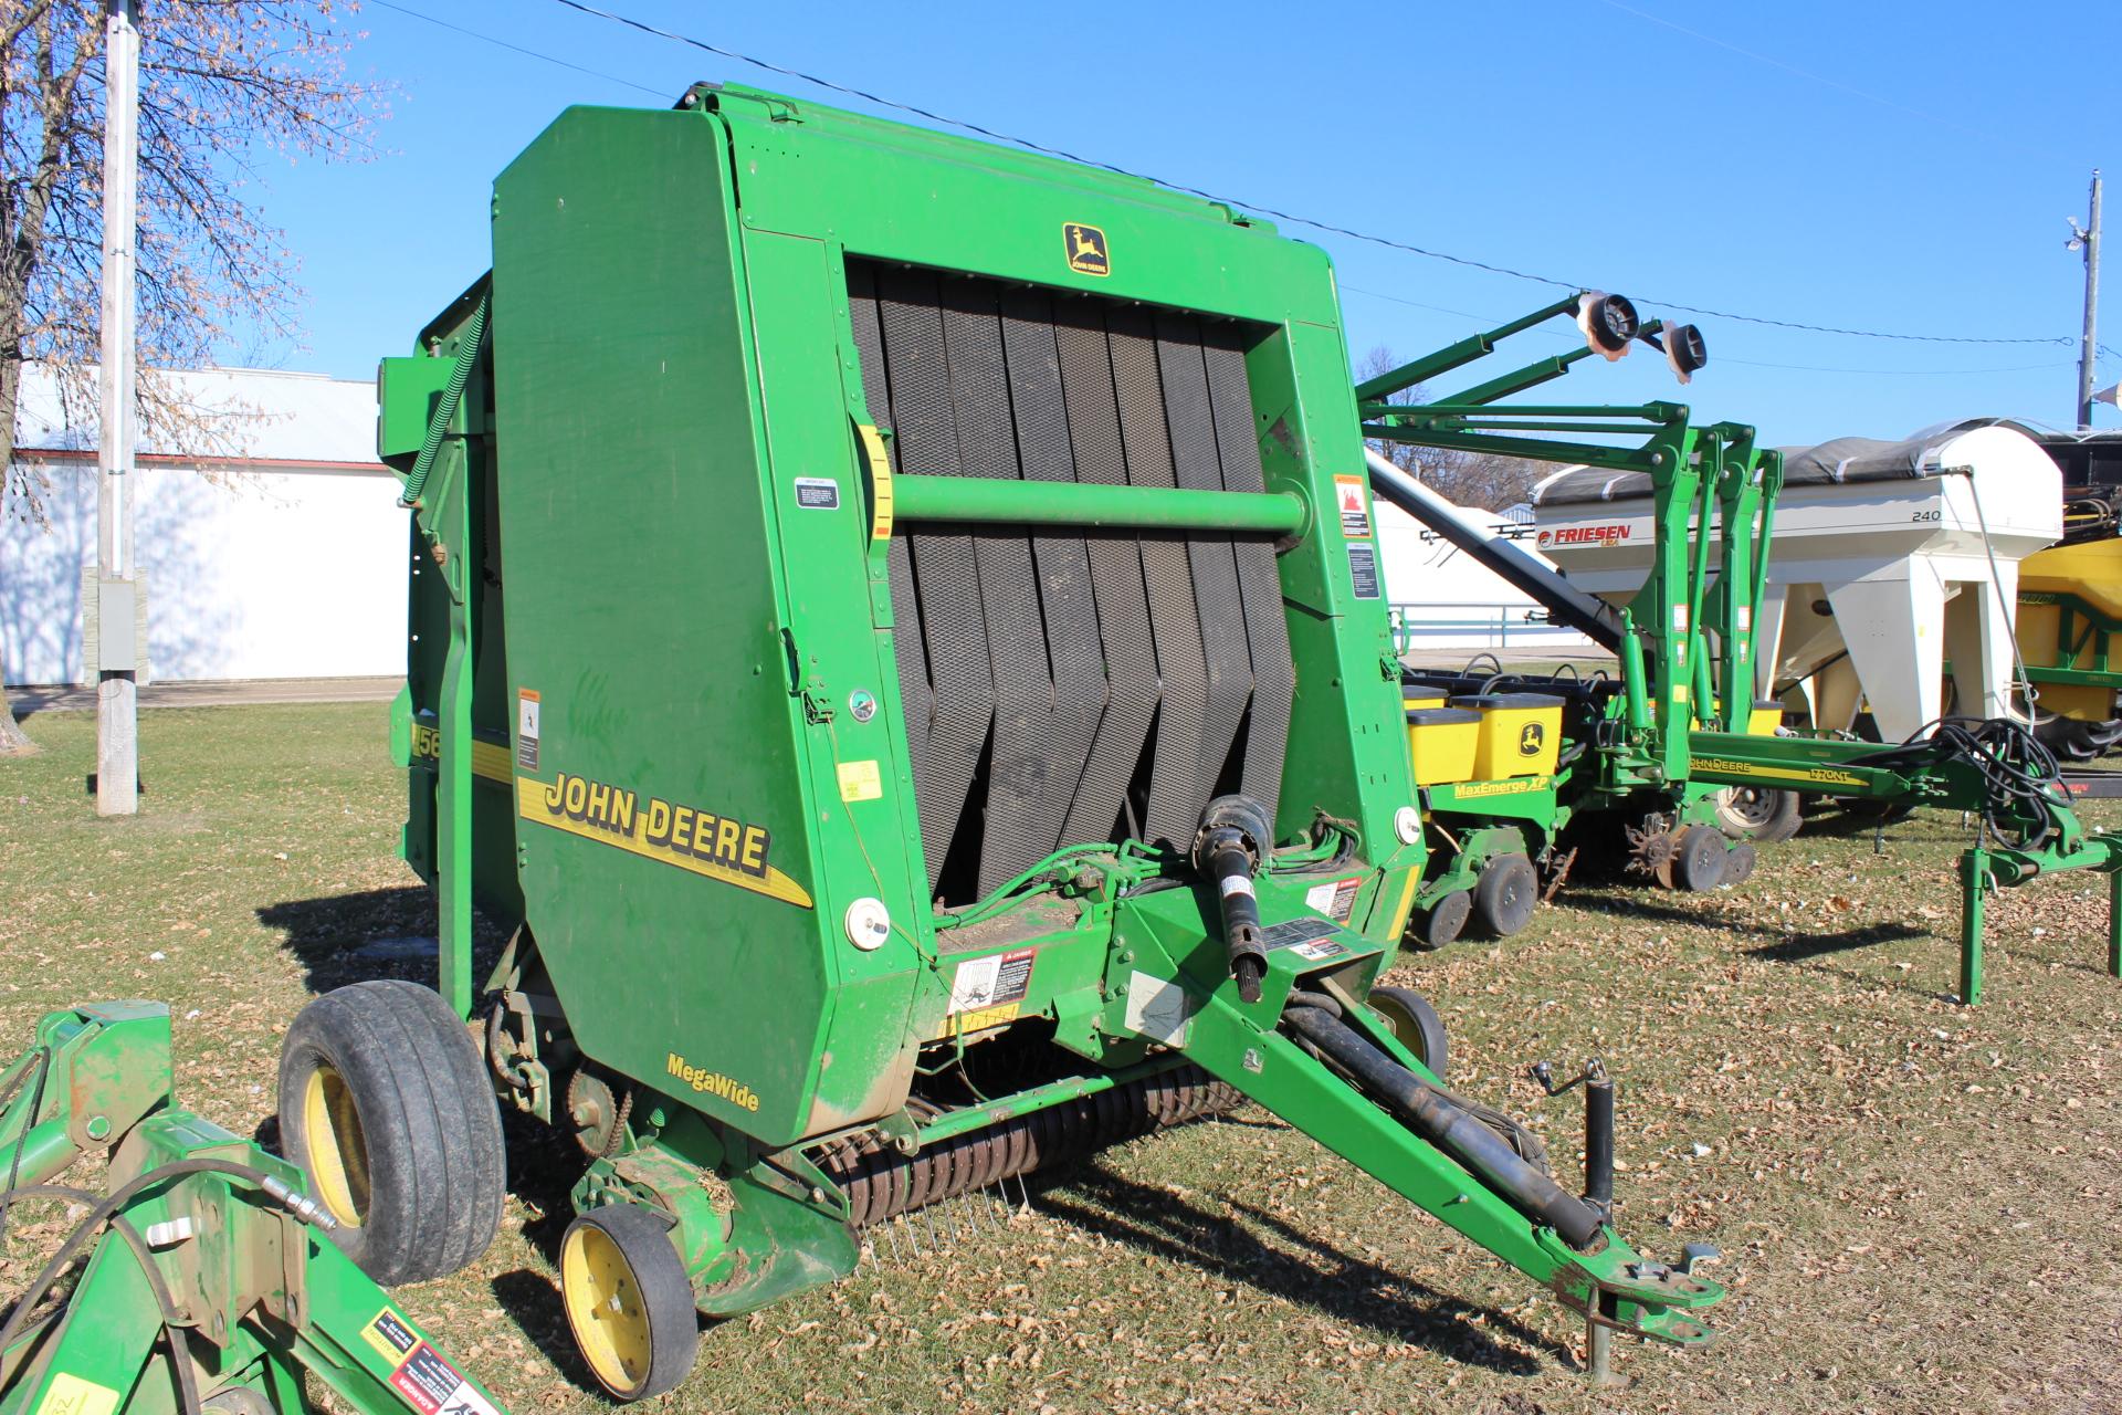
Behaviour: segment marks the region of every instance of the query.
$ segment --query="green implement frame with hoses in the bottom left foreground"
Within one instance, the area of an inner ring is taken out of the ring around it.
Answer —
[[[87,1160],[106,1196],[57,1182]],[[0,1216],[87,1209],[0,1326],[0,1415],[497,1411],[333,1245],[293,1165],[178,1107],[159,1003],[38,1023],[0,1071]]]

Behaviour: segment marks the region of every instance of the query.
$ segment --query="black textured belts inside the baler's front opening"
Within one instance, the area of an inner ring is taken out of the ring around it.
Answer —
[[[1250,325],[849,261],[895,475],[1263,492]],[[929,885],[985,897],[1057,849],[1184,849],[1220,791],[1280,798],[1290,668],[1265,537],[921,526],[889,547]]]

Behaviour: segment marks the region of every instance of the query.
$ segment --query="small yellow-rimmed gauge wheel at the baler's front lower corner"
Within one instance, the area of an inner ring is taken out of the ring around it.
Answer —
[[[700,1313],[671,1220],[647,1205],[592,1209],[560,1237],[560,1305],[575,1349],[618,1400],[647,1400],[692,1375]]]

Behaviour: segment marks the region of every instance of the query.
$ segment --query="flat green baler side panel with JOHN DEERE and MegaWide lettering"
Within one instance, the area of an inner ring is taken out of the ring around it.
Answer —
[[[520,874],[584,1052],[783,1141],[832,978],[728,182],[702,115],[573,108],[494,185]]]

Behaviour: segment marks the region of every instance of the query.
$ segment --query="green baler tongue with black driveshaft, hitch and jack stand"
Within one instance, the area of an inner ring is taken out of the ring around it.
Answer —
[[[1587,1175],[1585,1199],[1568,1194],[1536,1137],[1447,1090],[1350,991],[1377,944],[1318,914],[1280,919],[1263,929],[1267,967],[1260,999],[1248,1003],[1216,940],[1201,940],[1195,908],[1184,891],[1120,902],[1116,936],[1131,944],[1133,972],[1114,991],[1129,999],[1133,1031],[1551,1288],[1587,1315],[1596,1366],[1611,1330],[1710,1341],[1693,1315],[1723,1298],[1719,1283],[1693,1273],[1710,1256],[1706,1245],[1676,1264],[1645,1258],[1608,1224],[1611,1201],[1598,1199],[1611,1194],[1611,1173]],[[1606,1133],[1587,1143],[1587,1165],[1598,1156],[1611,1165],[1611,1105],[1589,1114]]]

